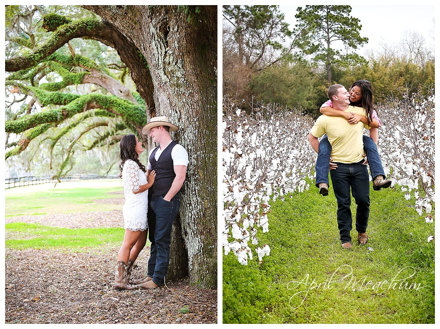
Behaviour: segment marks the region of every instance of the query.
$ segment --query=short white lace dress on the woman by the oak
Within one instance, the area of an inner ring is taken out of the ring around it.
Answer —
[[[122,207],[124,229],[145,231],[148,228],[148,189],[138,194],[134,194],[133,190],[139,190],[140,185],[147,184],[147,176],[136,162],[126,160],[122,168],[122,181],[125,197],[125,203]]]

